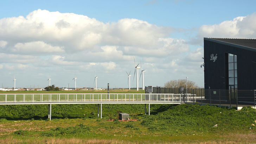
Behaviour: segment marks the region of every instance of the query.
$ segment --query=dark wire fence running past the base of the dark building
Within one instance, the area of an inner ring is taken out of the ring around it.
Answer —
[[[174,93],[174,94],[194,94],[194,101],[199,104],[210,104],[229,107],[254,106],[256,108],[256,90],[237,90],[230,88],[229,90],[218,89],[183,89],[153,87],[152,93]],[[147,87],[145,89],[147,92]]]

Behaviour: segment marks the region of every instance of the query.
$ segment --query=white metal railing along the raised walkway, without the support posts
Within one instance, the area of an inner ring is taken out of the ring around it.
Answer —
[[[49,103],[49,102],[169,102],[183,103],[184,94],[145,94],[145,93],[49,93],[49,94],[0,94],[3,103]],[[195,94],[187,94],[192,101]]]

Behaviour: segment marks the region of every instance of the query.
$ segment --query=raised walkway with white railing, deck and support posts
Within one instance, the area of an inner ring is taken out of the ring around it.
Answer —
[[[193,102],[193,94],[187,94],[186,102]],[[20,104],[48,104],[48,118],[51,119],[52,104],[148,104],[148,114],[150,115],[150,104],[183,104],[184,94],[145,94],[145,93],[17,93],[0,94],[0,105],[20,105]]]

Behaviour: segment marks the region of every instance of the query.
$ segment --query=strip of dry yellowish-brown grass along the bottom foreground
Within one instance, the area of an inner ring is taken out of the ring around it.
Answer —
[[[182,136],[181,136],[182,137]],[[244,143],[255,143],[256,142],[256,135],[255,133],[250,134],[230,134],[221,136],[219,138],[206,138],[200,140],[191,140],[186,141],[188,139],[180,139],[178,141],[172,141],[169,139],[169,142],[151,142],[150,140],[146,141],[122,141],[120,139],[85,139],[85,138],[49,138],[49,137],[40,137],[40,138],[22,138],[22,137],[13,137],[8,136],[5,138],[0,139],[0,143],[4,144],[13,144],[13,143],[44,143],[44,144],[133,144],[133,143],[178,143],[178,144],[191,144],[191,143],[199,143],[199,144],[244,144]]]

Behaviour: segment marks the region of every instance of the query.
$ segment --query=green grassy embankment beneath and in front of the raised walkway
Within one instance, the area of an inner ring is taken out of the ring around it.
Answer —
[[[0,143],[255,143],[256,111],[209,105],[0,105]],[[134,121],[118,121],[118,112]],[[115,119],[109,120],[109,119]],[[136,120],[136,121],[135,121]]]

